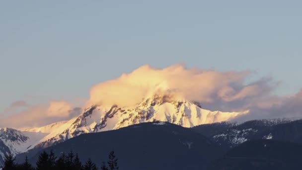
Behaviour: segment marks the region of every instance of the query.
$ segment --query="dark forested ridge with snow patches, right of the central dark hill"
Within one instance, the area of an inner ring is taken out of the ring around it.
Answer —
[[[213,123],[192,128],[204,134],[214,143],[229,150],[243,142],[255,139],[276,139],[288,142],[302,143],[302,120],[293,119],[263,119],[238,123]]]

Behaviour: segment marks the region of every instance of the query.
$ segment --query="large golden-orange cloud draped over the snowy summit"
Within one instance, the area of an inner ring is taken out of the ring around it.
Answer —
[[[245,85],[250,72],[219,72],[198,68],[187,69],[181,64],[157,69],[142,66],[132,73],[94,85],[88,104],[129,106],[156,92],[206,104],[231,103],[267,95],[274,88],[270,78]]]

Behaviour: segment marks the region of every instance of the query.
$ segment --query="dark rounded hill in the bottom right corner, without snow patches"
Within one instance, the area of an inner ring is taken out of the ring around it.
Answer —
[[[302,144],[251,140],[231,149],[210,170],[301,170]]]

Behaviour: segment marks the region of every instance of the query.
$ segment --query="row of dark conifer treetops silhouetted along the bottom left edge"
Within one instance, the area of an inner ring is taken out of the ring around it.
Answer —
[[[107,163],[102,162],[100,170],[118,170],[118,159],[116,158],[114,151],[111,151],[108,155]],[[22,164],[17,164],[15,158],[11,153],[5,156],[4,165],[2,170],[98,170],[95,163],[89,158],[85,164],[80,162],[78,154],[74,154],[73,151],[67,155],[63,152],[59,158],[55,156],[53,151],[43,151],[38,158],[35,166],[32,166],[27,156]]]

